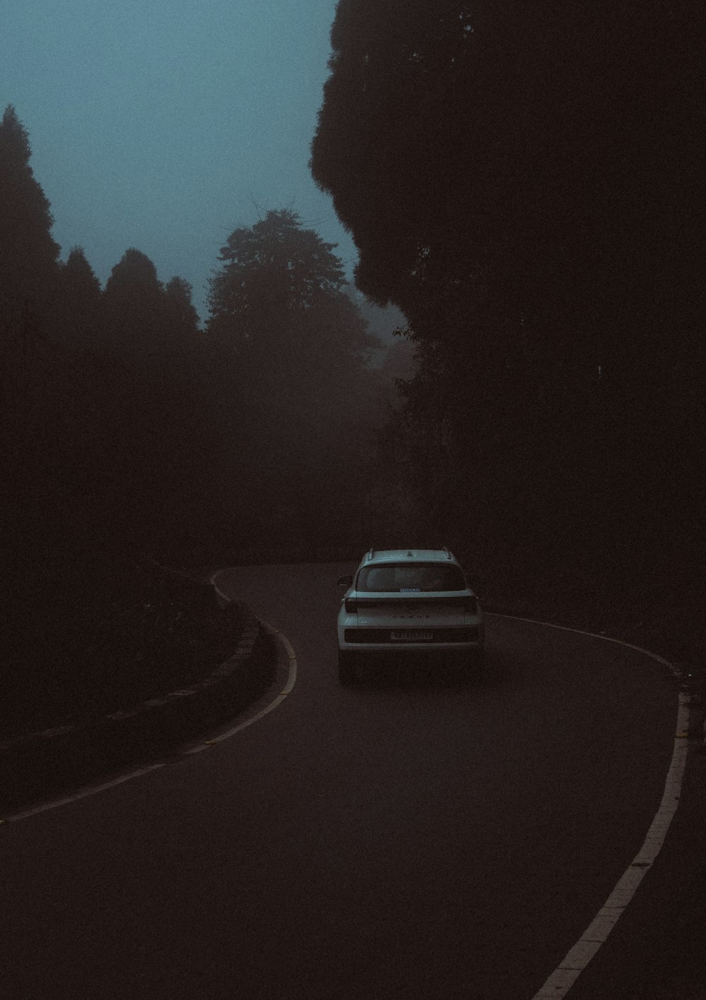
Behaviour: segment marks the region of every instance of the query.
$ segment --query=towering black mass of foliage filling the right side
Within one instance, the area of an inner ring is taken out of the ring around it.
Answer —
[[[338,4],[312,168],[418,347],[390,468],[489,575],[702,565],[703,27],[690,0]]]

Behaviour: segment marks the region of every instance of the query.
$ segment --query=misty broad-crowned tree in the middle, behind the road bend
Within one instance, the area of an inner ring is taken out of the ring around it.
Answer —
[[[290,211],[236,229],[211,280],[207,336],[231,473],[266,530],[328,524],[360,478],[377,401],[367,332],[334,247]],[[321,528],[323,530],[323,528]]]

